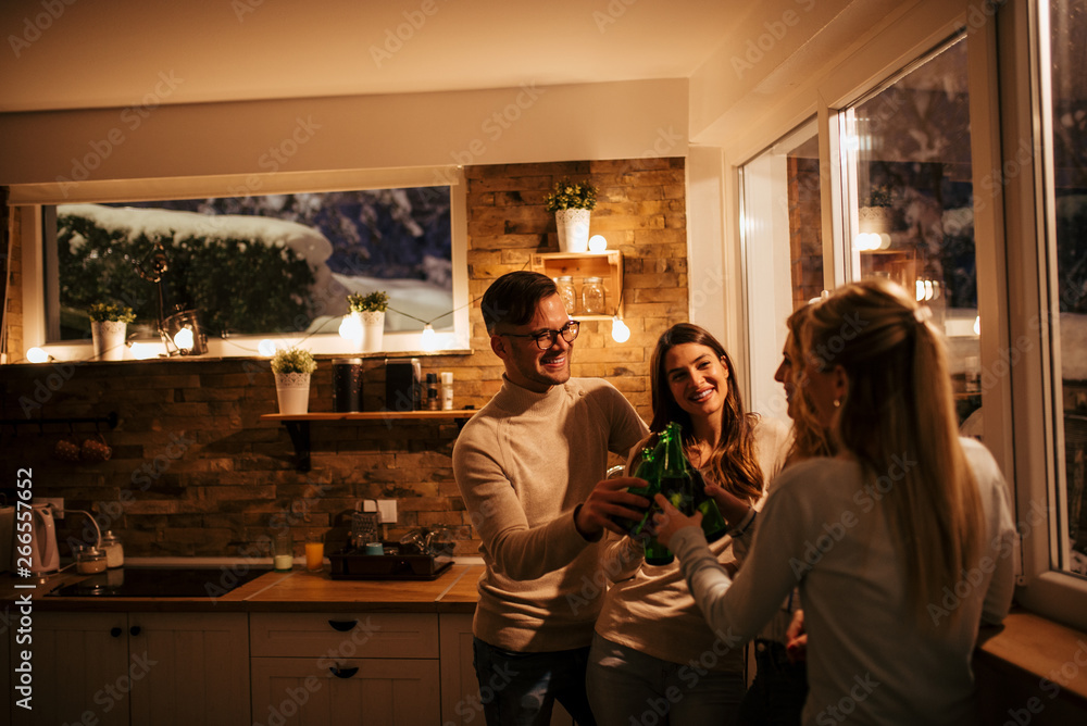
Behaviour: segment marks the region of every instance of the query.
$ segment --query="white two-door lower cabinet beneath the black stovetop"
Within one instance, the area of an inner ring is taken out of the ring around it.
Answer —
[[[34,710],[14,724],[249,723],[245,613],[37,612],[33,635]]]

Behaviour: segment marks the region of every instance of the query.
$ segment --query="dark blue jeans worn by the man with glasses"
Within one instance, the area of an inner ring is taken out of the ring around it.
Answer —
[[[585,696],[589,649],[518,653],[472,639],[488,726],[547,726],[555,699],[578,726],[596,726]]]

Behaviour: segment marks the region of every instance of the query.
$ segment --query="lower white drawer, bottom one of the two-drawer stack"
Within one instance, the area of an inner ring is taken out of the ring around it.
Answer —
[[[252,676],[254,724],[441,723],[437,660],[254,658]]]

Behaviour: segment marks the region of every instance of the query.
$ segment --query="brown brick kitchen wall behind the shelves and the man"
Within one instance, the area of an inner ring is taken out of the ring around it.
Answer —
[[[591,231],[624,254],[632,336],[619,345],[610,323],[587,323],[573,372],[607,377],[648,421],[652,347],[665,327],[687,320],[684,160],[475,166],[465,175],[475,352],[423,358],[424,373],[453,372],[458,408],[479,408],[498,390],[502,367],[490,352],[476,299],[499,275],[526,267],[532,253],[558,251],[554,218],[542,197],[562,176],[587,178],[600,189]],[[339,547],[361,498],[398,500],[400,523],[389,530],[391,539],[416,525],[450,525],[458,554],[476,553],[478,541],[452,475],[454,423],[314,423],[313,467],[301,473],[286,430],[260,418],[277,410],[266,360],[9,365],[0,370],[0,388],[4,420],[117,413],[117,427],[102,428],[113,456],[97,464],[53,456],[67,427],[49,425],[39,433],[37,426],[3,426],[4,481],[14,480],[16,467],[32,468],[35,495],[64,497],[67,508],[96,512],[103,527],[121,535],[129,556],[263,555],[273,518],[284,516],[292,523],[298,553],[309,531],[325,533],[329,547]],[[364,396],[379,408],[379,360],[366,361]],[[330,410],[325,356],[314,374],[310,411]],[[90,424],[74,431],[80,440],[96,434]],[[86,517],[70,514],[59,535],[79,538],[87,526]]]

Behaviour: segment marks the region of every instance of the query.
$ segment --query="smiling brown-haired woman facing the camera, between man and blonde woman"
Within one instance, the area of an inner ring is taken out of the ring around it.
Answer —
[[[721,343],[697,325],[674,325],[657,343],[650,376],[650,428],[660,431],[678,422],[687,456],[707,481],[759,502],[764,484],[782,467],[791,434],[784,422],[744,410]],[[612,585],[588,667],[597,722],[733,723],[746,690],[741,644],[710,628],[678,562],[647,564],[642,538],[612,536],[610,542],[604,572]],[[732,537],[710,547],[720,562],[733,561]]]

